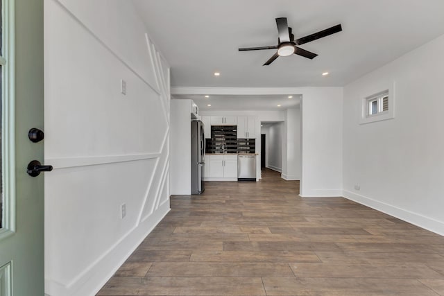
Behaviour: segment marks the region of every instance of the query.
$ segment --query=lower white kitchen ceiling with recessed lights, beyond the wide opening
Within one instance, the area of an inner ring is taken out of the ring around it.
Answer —
[[[173,98],[191,98],[202,110],[285,110],[296,107],[300,103],[301,96],[293,95],[174,95]],[[208,105],[211,106],[208,106]],[[278,107],[280,105],[280,107]]]

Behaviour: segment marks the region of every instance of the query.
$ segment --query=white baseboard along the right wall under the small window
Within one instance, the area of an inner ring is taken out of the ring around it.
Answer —
[[[347,198],[348,200],[357,202],[359,204],[364,204],[365,206],[370,207],[372,209],[376,209],[377,211],[382,211],[385,214],[404,220],[418,227],[427,229],[441,236],[444,236],[443,221],[438,221],[432,218],[428,218],[422,216],[421,214],[414,213],[406,209],[401,209],[391,204],[386,204],[385,202],[379,202],[378,200],[374,200],[373,198],[368,198],[364,195],[352,193],[347,190],[343,191],[343,197]]]

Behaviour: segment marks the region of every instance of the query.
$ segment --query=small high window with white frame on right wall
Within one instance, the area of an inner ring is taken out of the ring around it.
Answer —
[[[377,92],[364,98],[361,97],[362,113],[359,119],[360,124],[395,118],[395,82],[386,86],[388,87],[382,92]]]

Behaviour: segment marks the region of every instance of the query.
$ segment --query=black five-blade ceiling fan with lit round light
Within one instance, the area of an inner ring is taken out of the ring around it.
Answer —
[[[328,35],[332,35],[334,33],[342,31],[341,24],[339,24],[336,26],[332,26],[331,28],[327,28],[323,31],[319,31],[317,33],[307,35],[305,37],[294,40],[294,35],[291,33],[291,28],[287,24],[287,17],[278,17],[276,19],[276,24],[278,25],[278,33],[279,33],[278,45],[247,47],[244,49],[239,49],[239,51],[260,51],[262,49],[278,49],[278,51],[276,51],[276,53],[269,60],[267,60],[263,66],[268,66],[280,56],[285,57],[287,55],[292,55],[293,53],[312,60],[316,58],[317,54],[311,53],[310,51],[306,51],[305,49],[301,49],[300,47],[298,47],[298,45],[318,40],[322,37],[326,37]]]

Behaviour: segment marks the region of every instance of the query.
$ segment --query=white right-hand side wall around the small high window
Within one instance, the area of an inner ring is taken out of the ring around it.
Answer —
[[[343,109],[345,197],[438,234],[444,234],[443,52],[444,35],[350,83]],[[393,82],[395,119],[359,125],[361,98]]]

